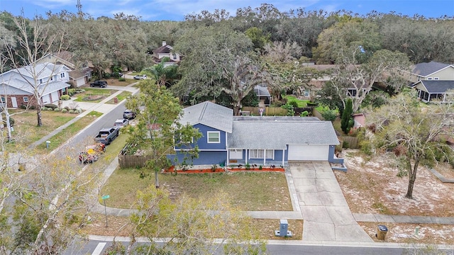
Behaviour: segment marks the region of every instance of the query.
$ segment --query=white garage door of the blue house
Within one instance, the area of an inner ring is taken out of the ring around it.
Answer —
[[[289,160],[328,160],[329,145],[289,145]]]

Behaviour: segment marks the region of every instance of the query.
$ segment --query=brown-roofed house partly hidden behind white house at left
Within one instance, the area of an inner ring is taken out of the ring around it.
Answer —
[[[53,64],[65,64],[65,66],[69,67],[71,71],[69,72],[70,75],[70,83],[74,86],[83,86],[87,84],[89,79],[92,78],[92,69],[89,68],[89,63],[83,63],[81,68],[77,68],[75,64],[72,62],[72,54],[70,52],[64,51],[59,52],[56,54],[48,54],[41,57],[39,60],[36,61],[37,63],[45,63],[50,62]]]

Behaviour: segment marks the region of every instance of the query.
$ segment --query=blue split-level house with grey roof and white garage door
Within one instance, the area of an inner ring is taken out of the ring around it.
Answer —
[[[286,166],[293,160],[343,164],[334,156],[338,137],[330,121],[314,117],[233,116],[233,110],[206,101],[184,108],[180,123],[197,128],[202,137],[195,165],[258,164]],[[182,162],[184,154],[175,148]]]

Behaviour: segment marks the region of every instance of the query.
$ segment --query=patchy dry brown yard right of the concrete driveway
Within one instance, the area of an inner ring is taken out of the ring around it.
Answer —
[[[408,177],[398,177],[392,154],[366,157],[357,150],[341,154],[348,168],[335,171],[350,210],[358,213],[454,217],[454,183],[443,183],[425,166],[420,166],[414,185],[414,199],[404,198]],[[446,177],[453,172],[448,164],[436,166]],[[449,177],[448,177],[449,178]],[[381,222],[389,229],[387,242],[436,242],[453,244],[452,225],[414,225]],[[375,240],[380,222],[360,222]],[[412,237],[419,226],[419,237]],[[448,241],[449,240],[449,241]]]

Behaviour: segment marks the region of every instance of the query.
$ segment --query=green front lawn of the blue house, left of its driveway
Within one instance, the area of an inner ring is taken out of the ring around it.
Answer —
[[[140,173],[148,174],[140,179]],[[228,193],[228,203],[240,210],[292,210],[287,181],[282,172],[233,174],[159,174],[160,188],[170,191],[170,197],[187,193],[193,198],[209,198],[216,193]],[[102,188],[109,194],[106,205],[131,208],[135,194],[155,185],[155,173],[147,169],[116,169]]]

